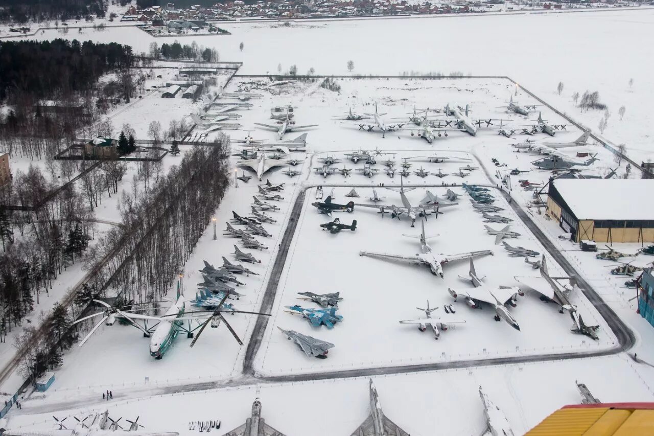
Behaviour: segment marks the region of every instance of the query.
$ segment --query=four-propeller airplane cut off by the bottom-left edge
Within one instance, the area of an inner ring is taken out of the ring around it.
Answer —
[[[75,424],[75,427],[72,429],[67,429],[66,426],[63,424],[63,422],[67,418],[63,418],[63,420],[58,420],[54,416],[52,418],[54,418],[54,420],[57,422],[56,425],[59,426],[59,428],[51,429],[51,430],[39,430],[39,431],[6,429],[3,430],[3,435],[7,435],[7,436],[110,436],[110,435],[115,435],[114,432],[116,431],[116,429],[118,429],[118,427],[120,427],[118,425],[118,421],[120,421],[120,418],[118,418],[118,420],[115,421],[109,418],[109,410],[105,410],[105,412],[102,413],[91,414],[89,416],[86,416],[86,418],[84,418],[83,420],[74,417],[77,420],[77,424]],[[90,419],[90,424],[85,424],[86,420],[88,419]],[[137,422],[138,420],[139,418],[136,418],[134,422]],[[179,436],[179,433],[172,432],[172,431],[141,431],[138,429],[139,426],[143,427],[141,426],[141,424],[137,424],[136,428],[134,428],[133,422],[129,420],[127,420],[127,422],[132,423],[132,426],[129,427],[130,436]]]

